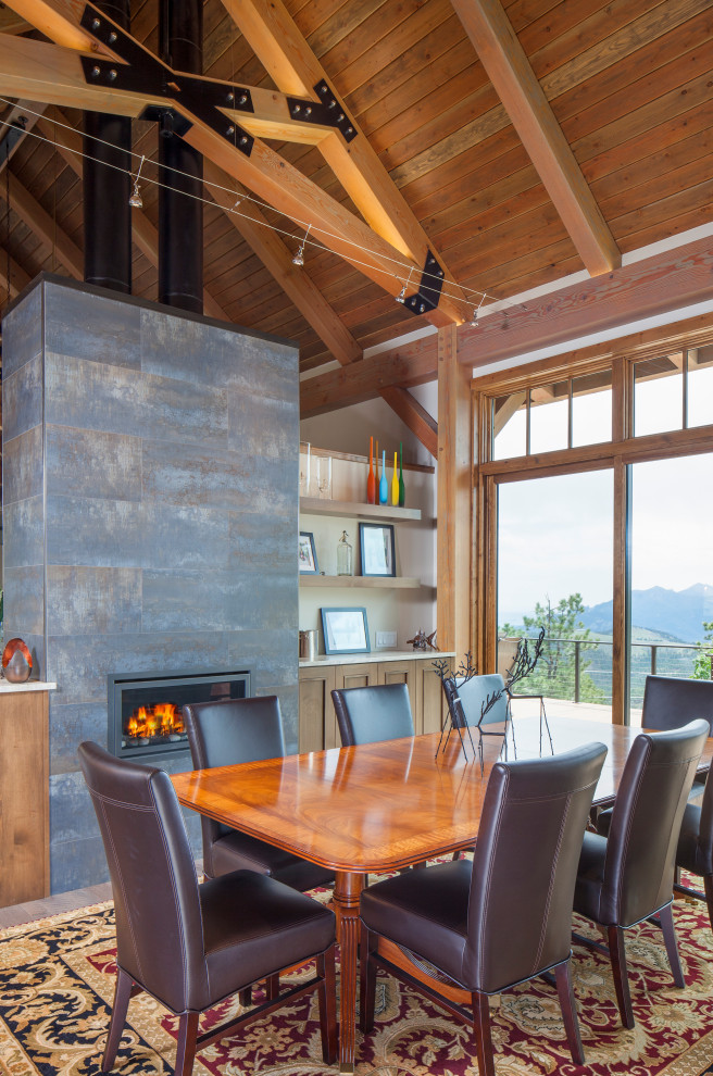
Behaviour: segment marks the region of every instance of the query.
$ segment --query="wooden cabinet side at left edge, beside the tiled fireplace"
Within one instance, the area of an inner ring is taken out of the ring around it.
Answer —
[[[0,906],[5,906],[50,891],[46,690],[0,690]]]

